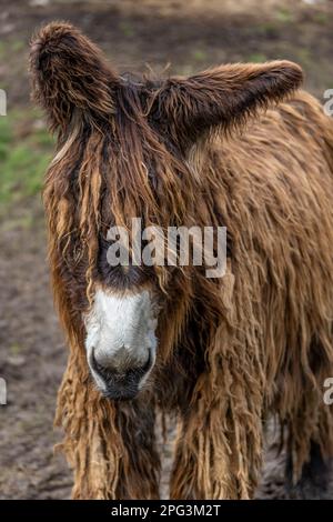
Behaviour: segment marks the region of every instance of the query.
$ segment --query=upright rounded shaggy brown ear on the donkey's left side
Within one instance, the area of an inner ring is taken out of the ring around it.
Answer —
[[[75,108],[91,122],[114,112],[115,73],[100,49],[69,23],[49,23],[32,38],[30,71],[34,99],[52,130],[64,130]]]

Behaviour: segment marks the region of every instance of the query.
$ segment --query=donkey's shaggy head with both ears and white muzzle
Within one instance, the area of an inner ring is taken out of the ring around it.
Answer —
[[[31,71],[36,99],[58,133],[44,202],[60,313],[100,390],[132,398],[181,334],[203,277],[194,267],[138,263],[132,219],[159,231],[219,224],[214,203],[203,195],[210,191],[204,165],[193,151],[209,150],[202,144],[210,137],[223,137],[283,99],[302,72],[276,61],[134,81],[110,69],[101,51],[67,23],[39,31]],[[128,259],[118,265],[110,262],[114,227],[129,232]]]

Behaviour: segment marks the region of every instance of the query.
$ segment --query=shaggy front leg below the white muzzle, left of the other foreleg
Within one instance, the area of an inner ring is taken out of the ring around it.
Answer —
[[[114,402],[90,387],[80,358],[71,355],[58,395],[56,424],[74,471],[74,499],[157,499],[160,460],[154,403],[145,394]]]

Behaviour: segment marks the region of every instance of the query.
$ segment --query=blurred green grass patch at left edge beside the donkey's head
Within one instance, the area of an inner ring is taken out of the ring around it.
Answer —
[[[52,139],[31,114],[0,117],[0,212],[40,192]],[[23,129],[23,131],[22,131]]]

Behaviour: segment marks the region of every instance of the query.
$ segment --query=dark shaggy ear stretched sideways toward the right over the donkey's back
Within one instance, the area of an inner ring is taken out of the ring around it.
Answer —
[[[302,80],[302,69],[289,61],[221,66],[169,79],[152,111],[172,141],[188,148],[216,128],[241,126],[259,109],[283,100]]]

